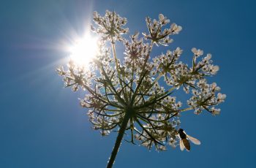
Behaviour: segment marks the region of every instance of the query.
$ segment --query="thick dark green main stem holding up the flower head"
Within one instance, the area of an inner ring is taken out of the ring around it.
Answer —
[[[121,127],[120,127],[120,129],[118,131],[118,136],[116,137],[115,146],[114,146],[114,148],[112,150],[110,159],[108,161],[107,168],[113,167],[114,161],[116,159],[116,155],[118,153],[118,149],[119,149],[119,147],[121,145],[121,140],[124,137],[124,131],[127,128],[127,123],[129,122],[129,118],[130,118],[130,114],[129,114],[129,112],[126,112],[125,115],[124,115],[124,121],[121,123]]]

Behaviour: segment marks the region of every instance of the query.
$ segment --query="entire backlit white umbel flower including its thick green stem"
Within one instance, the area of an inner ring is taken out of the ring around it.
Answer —
[[[86,69],[69,61],[67,69],[61,67],[57,72],[64,77],[65,87],[85,91],[80,105],[89,108],[94,129],[102,136],[118,131],[108,167],[113,165],[124,133],[129,135],[127,142],[166,150],[167,145],[175,148],[181,139],[181,112],[194,110],[200,114],[205,110],[219,114],[216,107],[226,95],[219,93],[216,83],[206,82],[219,71],[219,66],[212,64],[211,54],[203,56],[203,50],[193,47],[191,66],[179,61],[183,51],[180,47],[150,58],[154,45],[173,42],[170,36],[178,34],[181,26],[172,23],[165,28],[170,20],[159,14],[159,20],[146,18],[148,33],[143,33],[144,39],[139,32],[125,39],[128,28],[123,26],[127,19],[116,12],[107,10],[103,17],[94,12],[94,23],[96,27],[91,29],[101,39],[97,56]],[[121,60],[116,56],[117,41],[125,48]],[[178,101],[178,88],[190,97],[187,105]]]

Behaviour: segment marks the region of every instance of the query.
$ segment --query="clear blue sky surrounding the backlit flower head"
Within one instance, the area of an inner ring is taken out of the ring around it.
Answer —
[[[63,88],[55,68],[61,44],[83,32],[91,13],[115,10],[131,32],[146,31],[159,13],[183,26],[174,47],[212,53],[214,81],[227,94],[222,113],[187,112],[181,124],[202,145],[158,153],[123,142],[115,167],[256,167],[254,1],[2,1],[0,5],[0,167],[105,167],[116,133],[91,129],[82,93]],[[162,52],[161,47],[155,53]]]

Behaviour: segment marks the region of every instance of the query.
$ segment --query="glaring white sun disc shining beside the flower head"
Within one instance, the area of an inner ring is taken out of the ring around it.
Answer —
[[[83,37],[76,39],[69,48],[71,60],[78,66],[88,65],[99,50],[97,42],[97,37],[92,37],[90,34],[85,34]]]

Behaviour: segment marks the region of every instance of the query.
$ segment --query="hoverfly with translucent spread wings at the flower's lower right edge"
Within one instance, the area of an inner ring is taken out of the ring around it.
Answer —
[[[186,134],[186,132],[183,129],[178,129],[178,134],[179,134],[179,137],[181,137],[181,140],[179,142],[179,146],[181,150],[184,150],[184,148],[186,148],[187,151],[190,150],[189,140],[193,142],[195,145],[201,144],[201,142],[195,139],[195,137],[190,137],[188,134]]]

